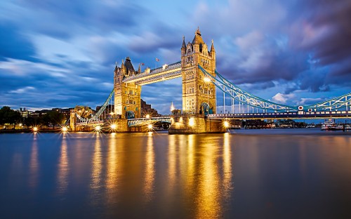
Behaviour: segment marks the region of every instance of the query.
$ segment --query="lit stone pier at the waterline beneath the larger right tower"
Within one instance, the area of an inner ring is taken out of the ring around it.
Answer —
[[[226,131],[223,121],[205,119],[202,114],[173,115],[171,117],[171,127],[168,129],[170,135],[225,133]]]

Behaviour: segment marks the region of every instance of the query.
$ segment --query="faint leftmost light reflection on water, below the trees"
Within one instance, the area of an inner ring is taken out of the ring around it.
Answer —
[[[38,161],[38,145],[37,145],[37,133],[34,133],[34,139],[32,149],[30,153],[29,161],[29,186],[37,187],[39,178],[39,161]]]

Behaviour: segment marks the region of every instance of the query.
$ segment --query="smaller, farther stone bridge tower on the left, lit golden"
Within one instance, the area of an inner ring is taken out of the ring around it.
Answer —
[[[125,83],[122,80],[140,74],[140,66],[135,71],[131,58],[127,57],[121,67],[114,68],[114,113],[120,115],[121,119],[140,118],[140,93],[141,86],[133,82]]]

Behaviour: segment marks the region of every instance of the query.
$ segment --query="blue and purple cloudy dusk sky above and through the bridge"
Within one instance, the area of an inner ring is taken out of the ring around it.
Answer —
[[[309,105],[351,92],[350,21],[350,0],[2,0],[0,107],[95,108],[115,62],[177,62],[197,27],[234,84]],[[181,80],[143,86],[142,98],[168,114],[171,101],[181,107]]]

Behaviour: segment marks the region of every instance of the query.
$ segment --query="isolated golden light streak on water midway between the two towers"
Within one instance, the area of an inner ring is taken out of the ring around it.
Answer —
[[[145,157],[145,180],[144,180],[145,201],[151,201],[154,193],[154,139],[152,133],[147,136],[146,157]]]

